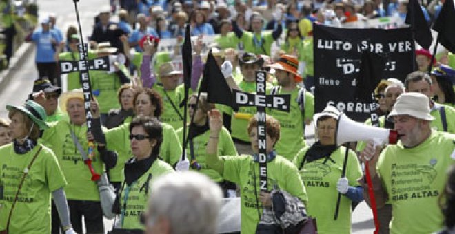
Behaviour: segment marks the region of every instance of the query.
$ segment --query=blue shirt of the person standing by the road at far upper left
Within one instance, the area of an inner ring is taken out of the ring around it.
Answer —
[[[55,45],[52,45],[52,39]],[[59,36],[53,31],[49,30],[43,32],[42,28],[35,30],[32,34],[32,41],[37,45],[37,54],[35,61],[37,63],[52,63],[54,60],[54,46],[60,43]]]

